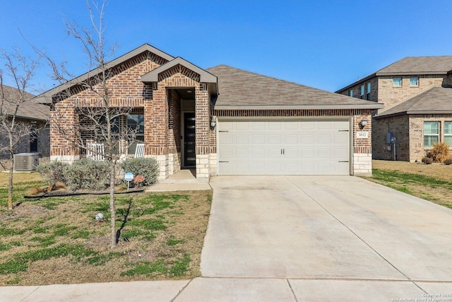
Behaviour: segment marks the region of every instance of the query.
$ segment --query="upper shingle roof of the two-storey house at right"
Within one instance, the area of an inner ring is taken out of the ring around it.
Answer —
[[[336,93],[345,91],[374,78],[375,76],[415,76],[427,74],[450,74],[452,73],[452,56],[430,56],[430,57],[404,57],[379,71],[369,74],[350,85],[340,88]]]

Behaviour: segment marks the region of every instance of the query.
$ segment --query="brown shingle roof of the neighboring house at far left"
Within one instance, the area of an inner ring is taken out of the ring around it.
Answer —
[[[19,98],[19,91],[17,88],[6,85],[3,85],[0,89],[3,90],[4,93],[4,108],[6,108],[6,114],[11,116],[16,108],[14,102]],[[25,100],[25,102],[19,106],[16,117],[25,120],[49,120],[50,110],[47,105],[35,103],[35,95],[32,95],[31,93],[25,92],[25,98],[28,98],[28,100]],[[8,103],[8,100],[10,100],[11,103]]]

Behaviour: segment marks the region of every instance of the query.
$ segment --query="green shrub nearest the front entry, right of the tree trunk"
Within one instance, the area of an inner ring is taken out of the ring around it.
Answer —
[[[124,173],[131,172],[133,175],[143,175],[142,185],[152,185],[157,182],[160,167],[155,158],[131,158],[121,163]]]

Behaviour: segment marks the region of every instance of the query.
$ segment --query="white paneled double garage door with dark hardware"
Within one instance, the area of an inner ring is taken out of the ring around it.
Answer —
[[[220,121],[219,175],[349,175],[350,122]]]

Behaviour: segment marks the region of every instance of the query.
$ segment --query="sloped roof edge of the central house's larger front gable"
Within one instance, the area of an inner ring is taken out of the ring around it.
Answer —
[[[158,50],[157,48],[146,43],[146,44],[143,44],[140,47],[136,48],[135,50],[132,50],[131,52],[127,52],[126,54],[121,55],[121,57],[117,57],[117,59],[114,59],[114,60],[108,62],[106,64],[106,68],[110,69],[110,68],[117,66],[121,63],[124,63],[127,60],[138,56],[138,54],[141,54],[146,51],[156,54],[158,57],[161,57],[162,59],[165,59],[166,61],[171,61],[172,59],[174,59],[174,57],[170,56],[166,52],[162,52],[161,50]],[[81,83],[87,79],[90,79],[93,76],[96,76],[97,74],[100,74],[101,71],[102,71],[102,69],[100,69],[100,68],[88,71],[87,73],[82,74],[81,76],[78,76],[75,79],[72,79],[71,81],[69,81],[67,83],[63,83],[53,89],[50,89],[49,91],[46,91],[45,93],[38,95],[36,98],[36,101],[38,103],[42,103],[42,104],[50,104],[50,103],[52,103],[52,95],[56,95],[57,93],[59,93],[61,91],[71,88],[72,86],[76,86],[78,83]]]

